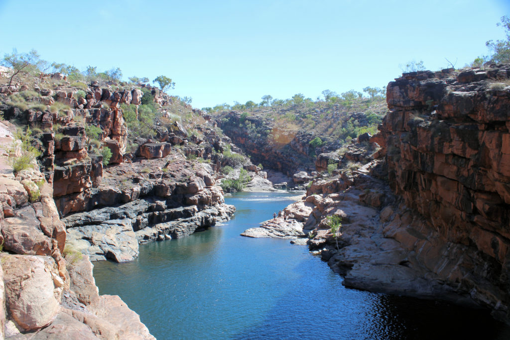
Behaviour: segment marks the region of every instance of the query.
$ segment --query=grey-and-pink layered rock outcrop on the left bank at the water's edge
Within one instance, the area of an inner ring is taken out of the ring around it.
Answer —
[[[226,221],[235,208],[224,204],[214,178],[211,166],[192,165],[178,152],[111,168],[96,191],[57,204],[64,214],[77,212],[62,219],[67,242],[91,260],[123,262],[138,256],[140,243]]]

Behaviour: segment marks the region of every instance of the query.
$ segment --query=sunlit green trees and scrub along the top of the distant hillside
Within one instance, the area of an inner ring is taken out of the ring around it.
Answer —
[[[290,99],[272,99],[270,95],[266,95],[259,104],[249,100],[245,104],[220,104],[202,110],[222,117],[226,124],[226,112],[241,112],[241,123],[252,138],[274,138],[274,130],[262,130],[261,128],[267,126],[254,124],[257,118],[282,129],[311,132],[318,136],[310,142],[311,146],[316,148],[331,140],[350,143],[363,133],[373,135],[377,132],[377,124],[386,113],[386,90],[366,87],[363,91],[364,93],[350,90],[337,94],[324,90],[322,97],[316,100],[304,98],[300,93]]]

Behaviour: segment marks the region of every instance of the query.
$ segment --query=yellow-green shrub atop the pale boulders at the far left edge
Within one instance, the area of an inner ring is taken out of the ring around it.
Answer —
[[[41,152],[32,145],[32,131],[27,127],[26,132],[18,131],[14,135],[15,141],[9,150],[8,163],[12,166],[14,174],[21,170],[30,169],[32,162],[41,155]],[[16,155],[19,154],[19,155]]]

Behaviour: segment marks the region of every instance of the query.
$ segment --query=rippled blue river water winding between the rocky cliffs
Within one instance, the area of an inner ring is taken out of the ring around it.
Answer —
[[[120,295],[158,339],[510,338],[486,312],[347,289],[305,246],[239,236],[288,196],[235,194],[226,225],[95,263],[99,293]]]

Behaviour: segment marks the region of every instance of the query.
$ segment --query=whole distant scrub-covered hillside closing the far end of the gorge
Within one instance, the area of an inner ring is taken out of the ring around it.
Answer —
[[[220,107],[209,111],[254,164],[293,176],[299,171],[315,171],[318,154],[343,153],[358,136],[377,133],[386,113],[384,91],[368,89],[372,90],[368,97],[355,91],[341,95],[325,91],[324,100],[296,95],[250,109],[238,104],[232,107],[238,109],[234,111],[221,111]]]

